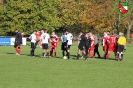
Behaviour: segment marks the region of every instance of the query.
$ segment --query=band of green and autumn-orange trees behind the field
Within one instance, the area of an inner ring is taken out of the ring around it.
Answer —
[[[114,11],[115,0],[4,1],[0,5],[0,35],[12,35],[15,29],[29,34],[41,28],[50,32],[67,28],[73,33],[123,31],[129,38],[133,28],[132,14],[120,17]]]

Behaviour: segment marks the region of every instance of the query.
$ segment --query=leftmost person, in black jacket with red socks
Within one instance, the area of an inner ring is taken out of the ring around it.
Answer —
[[[14,42],[14,48],[16,50],[16,55],[20,55],[21,49],[20,45],[22,44],[22,36],[21,33],[18,30],[15,30],[15,42]]]

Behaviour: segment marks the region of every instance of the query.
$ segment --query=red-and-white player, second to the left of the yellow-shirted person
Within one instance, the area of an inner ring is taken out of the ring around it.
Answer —
[[[107,34],[107,32],[104,32],[103,34],[102,45],[103,45],[103,51],[104,51],[104,58],[106,59],[106,56],[108,54],[108,48],[109,48],[109,35]]]

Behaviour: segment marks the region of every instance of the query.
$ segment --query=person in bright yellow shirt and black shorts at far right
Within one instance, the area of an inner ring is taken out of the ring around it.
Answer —
[[[118,59],[120,61],[123,60],[123,50],[125,48],[125,45],[126,45],[126,38],[123,36],[123,33],[122,32],[119,32],[119,39],[117,41],[118,43],[118,48],[117,48],[117,58],[116,60],[118,61]]]

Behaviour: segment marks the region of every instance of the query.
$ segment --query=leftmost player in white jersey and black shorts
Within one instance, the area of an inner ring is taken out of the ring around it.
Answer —
[[[30,55],[34,56],[34,51],[36,49],[36,31],[30,35],[29,39],[31,40],[31,50],[30,50]]]

